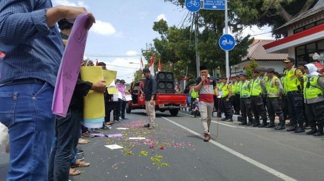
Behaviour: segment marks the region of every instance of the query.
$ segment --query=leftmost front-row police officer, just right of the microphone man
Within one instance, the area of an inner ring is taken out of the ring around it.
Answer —
[[[222,81],[224,86],[222,88],[223,94],[221,95],[221,104],[222,110],[225,113],[225,118],[221,119],[221,121],[233,122],[232,107],[230,102],[230,98],[232,96],[232,87],[231,84],[227,83],[227,77],[223,77]]]

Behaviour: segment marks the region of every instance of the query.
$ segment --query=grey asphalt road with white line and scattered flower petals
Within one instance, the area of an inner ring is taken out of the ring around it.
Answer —
[[[203,142],[199,118],[187,112],[176,117],[169,112],[156,115],[153,131],[139,128],[147,119],[142,110],[133,110],[129,120],[103,131],[123,136],[89,138],[89,144],[79,145],[84,161],[91,165],[77,168],[81,174],[70,180],[324,181],[324,136],[245,127],[238,122],[217,124],[218,118],[213,118],[212,141]],[[110,144],[124,148],[105,147]],[[8,154],[0,147],[0,181],[7,170]]]

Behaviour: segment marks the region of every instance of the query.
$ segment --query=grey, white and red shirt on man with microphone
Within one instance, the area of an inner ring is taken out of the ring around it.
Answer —
[[[194,86],[198,85],[201,82],[201,77],[198,77]],[[216,79],[213,76],[206,78],[205,82],[199,90],[199,101],[203,102],[214,102],[213,90],[216,88]]]

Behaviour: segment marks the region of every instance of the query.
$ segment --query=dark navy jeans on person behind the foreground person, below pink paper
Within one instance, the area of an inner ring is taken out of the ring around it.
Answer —
[[[68,181],[71,154],[78,144],[82,111],[67,111],[66,117],[56,119],[56,137],[49,166],[48,181]]]

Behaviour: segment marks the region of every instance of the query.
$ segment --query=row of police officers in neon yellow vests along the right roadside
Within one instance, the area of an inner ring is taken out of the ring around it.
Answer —
[[[287,131],[310,130],[308,135],[323,136],[324,77],[314,64],[300,61],[294,68],[295,59],[291,57],[283,62],[283,74],[273,68],[255,68],[251,80],[247,80],[246,73],[232,77],[231,83],[226,77],[220,78],[219,96],[214,96],[214,105],[218,113],[225,114],[221,120],[231,122],[233,113],[241,114],[240,125],[275,130],[289,127]],[[277,126],[275,115],[279,118]],[[286,124],[288,119],[290,122]]]

